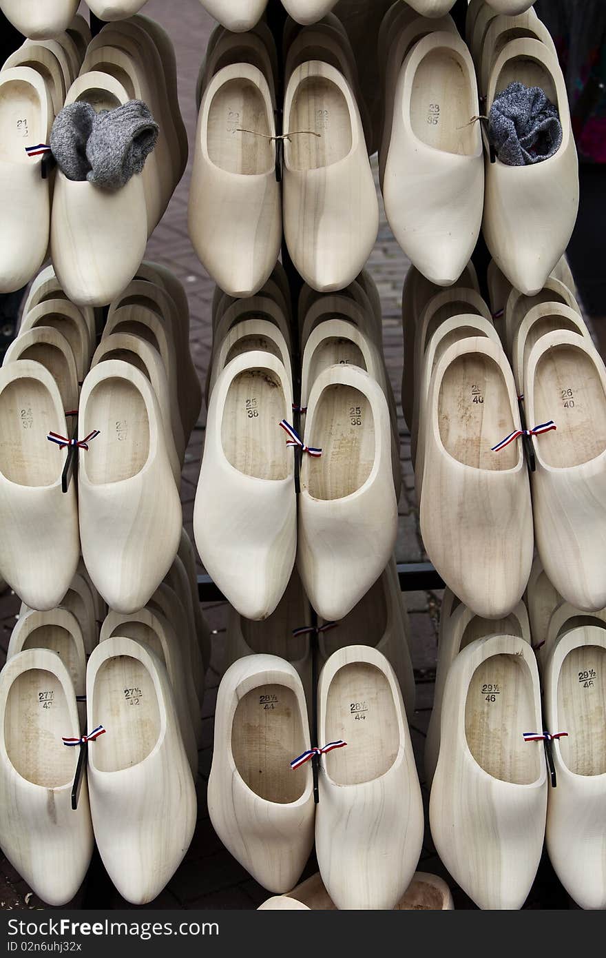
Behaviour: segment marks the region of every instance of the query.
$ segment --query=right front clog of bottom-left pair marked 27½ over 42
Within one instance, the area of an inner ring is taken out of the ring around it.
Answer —
[[[95,840],[126,899],[160,894],[188,851],[196,799],[168,680],[154,652],[123,636],[106,639],[86,670],[88,787]]]

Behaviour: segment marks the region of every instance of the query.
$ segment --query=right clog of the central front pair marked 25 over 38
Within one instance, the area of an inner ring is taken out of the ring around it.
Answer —
[[[312,454],[301,466],[297,566],[318,614],[339,620],[376,582],[395,543],[392,428],[381,387],[355,366],[329,366],[309,393],[303,442]]]

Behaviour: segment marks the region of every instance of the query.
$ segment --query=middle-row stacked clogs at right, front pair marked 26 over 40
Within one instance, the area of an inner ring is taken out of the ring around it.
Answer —
[[[414,267],[407,276],[402,396],[423,541],[478,615],[503,618],[520,601],[535,541],[561,595],[595,610],[606,604],[606,368],[555,274],[534,296],[509,289],[491,312],[471,267],[448,290]]]

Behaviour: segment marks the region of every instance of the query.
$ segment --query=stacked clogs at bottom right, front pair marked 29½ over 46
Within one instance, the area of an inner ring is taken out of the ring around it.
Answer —
[[[526,603],[488,620],[444,593],[425,747],[432,836],[482,908],[522,906],[544,841],[572,899],[604,908],[606,611],[562,600],[538,560]]]

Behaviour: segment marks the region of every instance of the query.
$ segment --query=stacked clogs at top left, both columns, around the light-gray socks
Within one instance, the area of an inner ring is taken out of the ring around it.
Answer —
[[[142,15],[107,24],[93,39],[81,17],[75,24],[71,33],[79,36],[80,52],[69,71],[58,40],[27,40],[0,73],[7,117],[17,112],[24,118],[14,128],[7,120],[12,142],[0,183],[0,288],[8,292],[28,283],[50,241],[56,276],[69,299],[104,306],[143,260],[147,237],[185,170],[188,144],[168,34]],[[146,103],[159,125],[142,172],[117,190],[68,178],[60,169],[42,177],[51,127],[64,105],[88,103],[99,112],[133,100]]]

